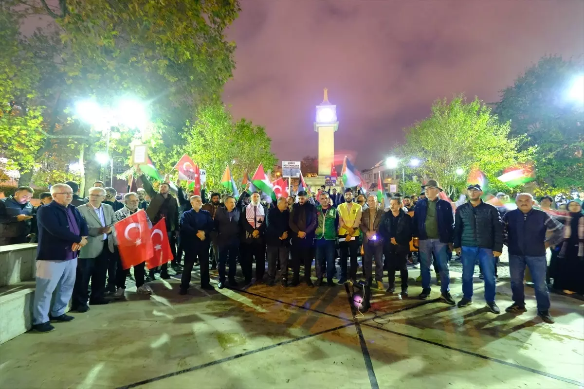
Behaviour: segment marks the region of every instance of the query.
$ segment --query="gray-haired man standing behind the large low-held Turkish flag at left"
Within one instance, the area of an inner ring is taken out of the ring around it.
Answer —
[[[140,210],[140,197],[135,192],[126,193],[124,195],[124,202],[126,205],[124,208],[116,211],[113,214],[114,222],[119,222],[122,219],[126,219],[128,216],[133,215],[134,213]],[[148,222],[148,228],[152,229],[152,222],[148,215],[146,215],[146,220]],[[115,234],[114,234],[115,237]],[[116,294],[115,297],[121,298],[124,296],[126,292],[126,277],[130,274],[130,269],[122,269],[121,268],[121,260],[120,260],[120,253],[117,251],[117,248],[114,250],[114,257],[117,261],[117,272],[116,272]],[[145,260],[146,258],[144,258]],[[147,283],[144,282],[144,278],[146,275],[145,270],[145,262],[142,262],[139,265],[134,266],[134,279],[136,281],[136,292],[141,293],[143,295],[151,295],[152,288],[148,286]]]

